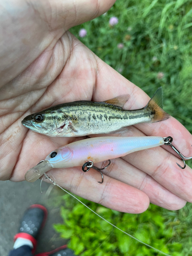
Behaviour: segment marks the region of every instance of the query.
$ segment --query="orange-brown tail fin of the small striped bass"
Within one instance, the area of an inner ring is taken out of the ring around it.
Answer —
[[[153,115],[152,123],[163,121],[169,118],[163,109],[163,97],[162,97],[162,87],[158,88],[154,96],[145,106],[145,109],[150,111]]]

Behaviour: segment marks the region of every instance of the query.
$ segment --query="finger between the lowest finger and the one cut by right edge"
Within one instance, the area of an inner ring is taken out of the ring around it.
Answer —
[[[106,162],[103,162],[97,166],[103,168],[106,164]],[[102,170],[102,173],[140,189],[148,196],[151,203],[163,208],[178,210],[186,204],[185,200],[174,195],[151,176],[121,158],[112,159],[111,164],[108,168]]]

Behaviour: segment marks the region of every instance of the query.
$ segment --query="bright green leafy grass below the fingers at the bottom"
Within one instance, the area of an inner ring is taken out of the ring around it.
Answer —
[[[192,255],[192,206],[170,211],[150,205],[142,214],[124,214],[77,197],[103,218],[137,239],[173,256]],[[63,223],[54,228],[81,256],[161,255],[101,220],[69,195],[62,197]]]

